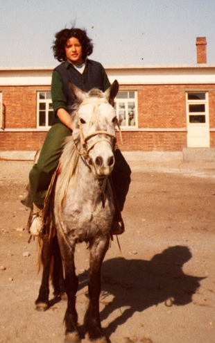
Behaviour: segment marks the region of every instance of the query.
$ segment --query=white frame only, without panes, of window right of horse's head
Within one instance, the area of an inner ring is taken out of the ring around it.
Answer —
[[[124,126],[120,126],[121,130],[133,130],[138,128],[138,112],[137,112],[137,105],[138,105],[138,101],[137,101],[137,90],[132,90],[132,89],[120,89],[118,94],[120,92],[128,92],[128,97],[127,98],[117,98],[115,97],[114,99],[114,108],[116,110],[116,114],[117,114],[117,119],[119,120],[119,103],[125,103],[125,111],[126,111],[126,125]],[[135,93],[135,97],[134,98],[129,98],[129,92],[134,92]],[[128,103],[129,102],[134,102],[135,103],[135,125],[128,125],[128,112],[130,111],[130,109],[128,108]]]

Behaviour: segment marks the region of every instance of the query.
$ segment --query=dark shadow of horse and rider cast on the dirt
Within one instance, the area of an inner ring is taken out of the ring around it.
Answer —
[[[184,274],[182,267],[191,259],[187,246],[171,246],[151,260],[112,258],[103,262],[101,301],[105,294],[114,298],[101,310],[101,320],[114,310],[121,315],[104,328],[107,337],[125,323],[135,312],[165,303],[166,306],[184,306],[191,303],[193,294],[203,278]],[[87,284],[87,274],[80,274],[80,287]]]

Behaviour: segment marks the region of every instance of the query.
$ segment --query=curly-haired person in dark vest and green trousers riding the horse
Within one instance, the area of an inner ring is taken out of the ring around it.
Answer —
[[[40,209],[43,206],[51,176],[58,165],[65,137],[71,135],[74,128],[71,120],[71,107],[74,104],[74,99],[69,90],[69,80],[85,92],[89,92],[94,87],[105,92],[110,87],[110,81],[101,63],[87,58],[92,51],[92,40],[87,37],[85,30],[65,28],[55,35],[54,57],[62,63],[53,70],[51,81],[52,126],[46,135],[40,158],[29,174],[33,200],[33,221],[30,229],[32,235],[38,235],[42,229]],[[117,156],[119,157],[117,158]],[[130,183],[130,168],[119,149],[115,158],[120,161],[118,161],[118,165],[123,167],[123,171],[118,170],[115,173],[113,171],[113,183],[118,183],[118,179],[122,178],[122,174],[125,173],[124,168],[127,170],[125,185],[123,187],[120,185],[118,192],[116,189],[117,199],[119,198],[118,207],[121,211]],[[117,219],[121,219],[121,216],[119,215]],[[123,233],[123,223],[120,225],[114,221],[112,234],[120,233]]]

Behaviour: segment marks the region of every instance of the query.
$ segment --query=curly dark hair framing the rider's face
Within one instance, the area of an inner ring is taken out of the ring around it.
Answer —
[[[53,42],[52,47],[54,58],[56,58],[59,62],[67,60],[65,47],[67,45],[67,40],[69,40],[71,37],[77,38],[82,45],[83,60],[92,54],[94,45],[92,40],[87,37],[86,30],[81,30],[80,28],[64,28],[55,34],[56,39]]]

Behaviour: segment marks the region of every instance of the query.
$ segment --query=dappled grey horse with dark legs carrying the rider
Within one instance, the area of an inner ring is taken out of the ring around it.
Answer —
[[[101,328],[99,296],[101,266],[110,246],[115,211],[110,174],[114,167],[117,125],[113,104],[119,83],[114,81],[105,92],[93,89],[86,93],[72,83],[69,88],[76,101],[72,115],[74,131],[66,139],[58,175],[49,192],[49,201],[44,204],[44,231],[40,234],[43,275],[35,303],[37,310],[48,308],[51,273],[55,296],[67,294],[65,342],[81,342],[74,252],[77,243],[87,242],[90,273],[85,331],[90,341],[107,343]]]

